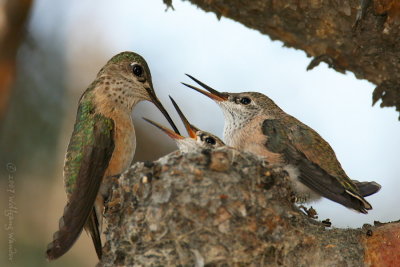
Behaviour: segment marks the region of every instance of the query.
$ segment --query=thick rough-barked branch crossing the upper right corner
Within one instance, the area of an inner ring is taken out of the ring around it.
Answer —
[[[400,1],[189,0],[377,85],[373,104],[400,111]],[[349,90],[351,90],[349,88]]]

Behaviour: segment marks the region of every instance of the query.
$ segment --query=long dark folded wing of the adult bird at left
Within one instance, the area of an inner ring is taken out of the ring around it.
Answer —
[[[93,205],[114,150],[114,123],[99,114],[92,117],[93,120],[87,121],[84,129],[80,129],[84,133],[70,143],[70,146],[76,147],[79,147],[80,143],[80,149],[71,154],[75,155],[74,157],[68,159],[67,156],[66,165],[70,161],[74,167],[66,169],[78,171],[76,176],[68,180],[70,187],[67,187],[67,190],[70,190],[70,197],[60,219],[59,231],[54,234],[53,242],[48,245],[46,253],[49,260],[62,256],[71,248],[87,221],[93,227],[96,226],[96,222],[91,221],[93,218],[88,218],[90,213],[94,212]],[[80,142],[77,141],[79,139]]]

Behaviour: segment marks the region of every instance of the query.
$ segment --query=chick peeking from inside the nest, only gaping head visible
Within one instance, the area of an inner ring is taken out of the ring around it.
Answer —
[[[143,118],[143,119],[145,121],[147,121],[148,123],[154,125],[155,127],[159,128],[164,133],[166,133],[169,137],[174,139],[180,151],[182,151],[184,153],[188,153],[188,152],[195,152],[195,151],[202,150],[202,149],[217,148],[217,147],[221,147],[221,146],[225,145],[224,142],[221,139],[219,139],[217,136],[215,136],[211,133],[202,131],[199,128],[197,128],[196,126],[194,126],[193,124],[191,124],[187,120],[187,118],[185,117],[185,115],[183,114],[181,109],[179,108],[178,104],[176,104],[175,100],[171,96],[169,98],[171,99],[171,102],[174,105],[175,110],[178,112],[179,117],[181,118],[181,120],[186,128],[186,131],[189,134],[189,137],[183,137],[176,131],[174,132],[152,120],[149,120],[146,118]]]

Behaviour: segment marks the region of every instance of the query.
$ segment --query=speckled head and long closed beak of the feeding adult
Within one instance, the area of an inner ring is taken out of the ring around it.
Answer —
[[[142,56],[134,52],[119,53],[107,62],[97,76],[102,85],[99,90],[107,101],[128,110],[142,100],[150,101],[179,133],[154,91],[150,69]]]

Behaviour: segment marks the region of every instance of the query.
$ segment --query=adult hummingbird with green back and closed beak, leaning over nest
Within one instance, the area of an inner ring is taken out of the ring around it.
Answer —
[[[48,260],[66,253],[83,228],[101,258],[100,236],[108,184],[132,162],[136,136],[131,114],[143,100],[156,105],[179,133],[154,92],[146,61],[134,52],[112,57],[82,94],[64,164],[68,202],[59,230],[47,247]]]

